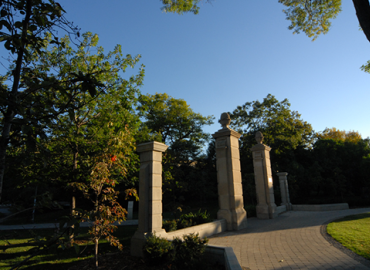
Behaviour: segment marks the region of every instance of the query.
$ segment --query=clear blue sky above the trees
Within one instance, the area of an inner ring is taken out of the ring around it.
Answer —
[[[328,34],[314,42],[288,30],[277,0],[204,1],[198,15],[170,14],[159,0],[60,0],[81,32],[99,35],[105,51],[121,44],[142,56],[146,94],[184,99],[194,112],[213,115],[268,94],[287,98],[316,132],[335,127],[370,137],[370,74],[360,67],[369,47],[352,1]],[[129,71],[123,75],[128,78]]]

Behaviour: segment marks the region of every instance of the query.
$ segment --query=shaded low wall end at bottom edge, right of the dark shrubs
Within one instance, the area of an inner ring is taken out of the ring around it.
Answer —
[[[226,270],[242,270],[232,247],[208,245],[205,256],[208,261],[224,265]]]

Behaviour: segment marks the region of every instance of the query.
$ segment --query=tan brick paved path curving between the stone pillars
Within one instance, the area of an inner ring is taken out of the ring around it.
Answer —
[[[370,212],[370,208],[325,212],[292,211],[276,219],[248,219],[248,227],[210,237],[209,244],[232,247],[239,263],[257,269],[370,268],[330,244],[321,225],[339,217]],[[370,230],[370,228],[369,228]]]

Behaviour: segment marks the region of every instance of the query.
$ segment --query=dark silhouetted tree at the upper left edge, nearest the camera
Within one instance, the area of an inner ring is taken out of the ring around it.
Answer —
[[[52,40],[60,45],[55,33],[58,28],[78,34],[77,28],[68,22],[63,14],[65,11],[58,3],[50,0],[8,0],[0,3],[0,42],[14,55],[14,64],[9,68],[8,75],[2,76],[0,87],[1,137],[0,137],[0,200],[5,171],[5,157],[9,141],[13,136],[13,126],[27,126],[26,111],[31,112],[31,106],[25,108],[23,102],[35,91],[55,84],[53,76],[33,78],[33,87],[24,85],[22,74],[27,70],[32,52],[39,52],[44,46],[45,32],[52,33]],[[78,80],[81,81],[81,78]],[[10,82],[7,86],[5,82]],[[40,104],[38,104],[40,106]],[[59,113],[63,108],[59,108]],[[56,112],[56,111],[54,111]],[[50,114],[50,112],[48,112]],[[46,115],[48,115],[48,113]],[[43,117],[47,117],[45,114]],[[50,116],[50,115],[48,115]],[[31,138],[32,136],[28,136]]]

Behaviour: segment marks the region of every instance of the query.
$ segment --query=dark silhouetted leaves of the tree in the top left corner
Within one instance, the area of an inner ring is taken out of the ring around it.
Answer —
[[[58,28],[69,32],[69,34],[79,35],[79,33],[77,28],[64,18],[64,10],[61,6],[52,0],[1,1],[0,10],[0,28],[2,30],[0,42],[4,42],[5,49],[13,54],[13,59],[15,59],[10,63],[8,74],[2,75],[0,79],[2,82],[0,87],[1,200],[6,150],[11,140],[22,131],[25,134],[22,143],[26,143],[29,149],[35,149],[37,135],[45,137],[45,132],[42,132],[43,123],[49,121],[53,116],[65,112],[63,106],[58,106],[60,104],[53,106],[50,102],[45,102],[45,97],[42,100],[34,99],[34,94],[45,91],[45,88],[48,89],[45,96],[53,95],[53,91],[50,91],[51,86],[56,84],[53,74],[37,77],[36,74],[24,76],[24,73],[32,74],[28,65],[34,54],[41,54],[41,49],[45,46],[45,33],[52,33],[50,43],[56,46],[63,45],[56,35]],[[79,78],[76,78],[76,83],[85,82],[86,77],[81,74]],[[10,82],[11,85],[7,86],[5,81]],[[68,99],[68,95],[65,98]],[[65,105],[65,103],[63,104]],[[39,114],[35,116],[35,112]]]

